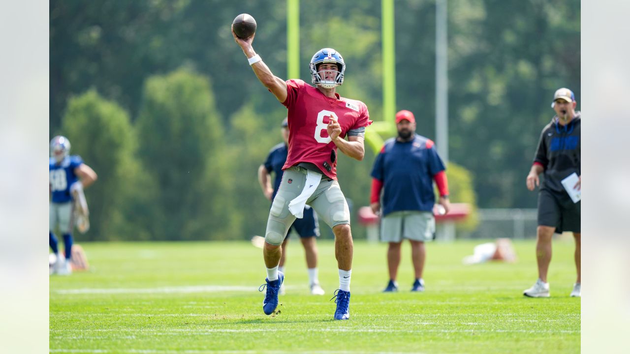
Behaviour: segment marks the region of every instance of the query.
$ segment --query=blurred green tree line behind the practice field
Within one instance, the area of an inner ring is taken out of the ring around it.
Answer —
[[[286,77],[285,1],[50,1],[50,136],[64,134],[99,174],[86,192],[90,240],[244,239],[270,202],[256,170],[281,141],[286,110],[234,43],[239,13],[254,47]],[[397,108],[435,139],[435,3],[395,1]],[[525,189],[555,89],[580,100],[579,0],[449,2],[452,201],[536,207]],[[381,1],[301,1],[301,79],[323,47],[347,62],[342,96],[382,120]],[[369,203],[365,160],[340,156],[354,209]],[[354,213],[353,213],[354,214]],[[354,215],[353,215],[354,217]],[[364,231],[353,222],[355,235]],[[472,226],[474,227],[474,222]]]

